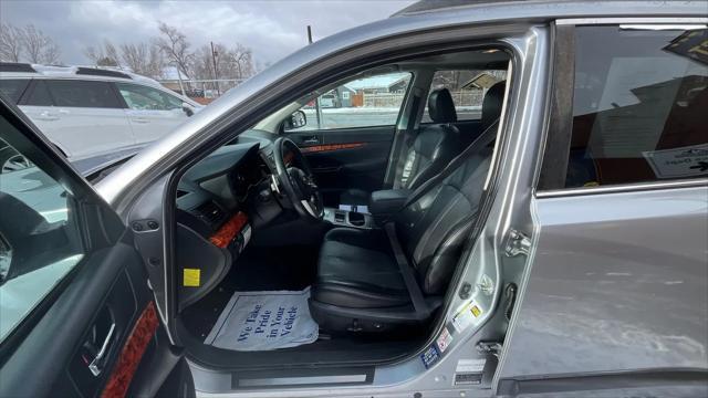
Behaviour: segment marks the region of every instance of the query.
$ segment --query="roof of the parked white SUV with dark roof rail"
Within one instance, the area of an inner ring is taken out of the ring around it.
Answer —
[[[82,65],[41,65],[0,62],[0,78],[81,78],[113,82],[136,82],[162,86],[157,81],[117,67]]]

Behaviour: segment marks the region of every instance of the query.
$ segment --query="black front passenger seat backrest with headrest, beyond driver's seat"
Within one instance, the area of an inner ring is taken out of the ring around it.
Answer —
[[[430,93],[428,113],[435,124],[424,127],[414,139],[404,165],[402,188],[417,188],[461,150],[459,130],[451,125],[457,122],[457,113],[447,88]]]

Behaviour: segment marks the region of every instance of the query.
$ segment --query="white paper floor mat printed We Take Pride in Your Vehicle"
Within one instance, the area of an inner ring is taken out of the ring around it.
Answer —
[[[236,292],[205,344],[235,350],[296,347],[317,339],[310,316],[310,287],[302,291]]]

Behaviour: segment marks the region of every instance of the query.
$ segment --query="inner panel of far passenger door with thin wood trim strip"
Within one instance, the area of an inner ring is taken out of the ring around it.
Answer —
[[[378,126],[288,133],[288,138],[308,158],[325,202],[333,203],[345,189],[382,188],[394,133],[394,126]]]

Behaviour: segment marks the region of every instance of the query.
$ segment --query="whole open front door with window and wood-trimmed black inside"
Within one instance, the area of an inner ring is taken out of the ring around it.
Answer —
[[[195,396],[131,230],[1,96],[0,139],[0,396]]]

